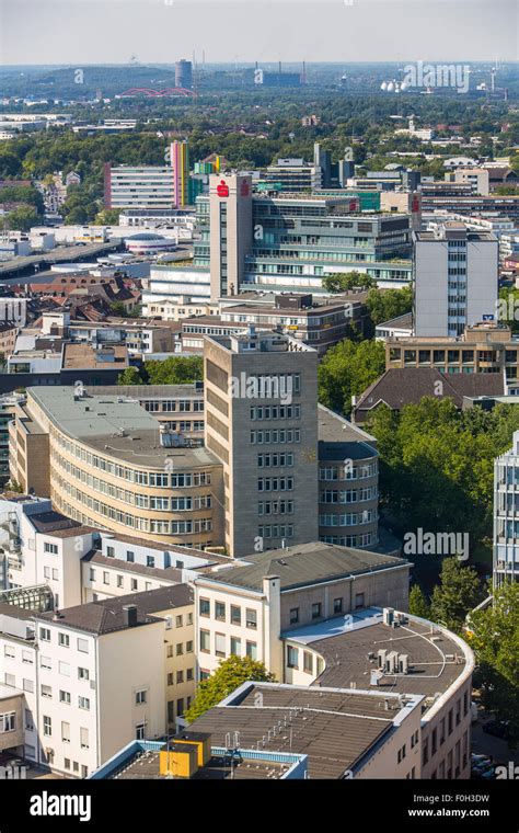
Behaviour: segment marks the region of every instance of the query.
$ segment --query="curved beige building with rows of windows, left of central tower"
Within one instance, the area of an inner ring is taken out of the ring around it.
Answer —
[[[222,543],[220,461],[135,401],[30,388],[10,424],[10,472],[88,526],[199,549]]]

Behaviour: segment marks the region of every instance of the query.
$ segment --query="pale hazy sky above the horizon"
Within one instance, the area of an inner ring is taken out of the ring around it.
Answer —
[[[517,0],[0,0],[0,62],[519,59]]]

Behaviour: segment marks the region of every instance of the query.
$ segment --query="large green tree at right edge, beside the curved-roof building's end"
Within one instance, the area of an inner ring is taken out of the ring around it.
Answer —
[[[519,741],[519,583],[494,590],[493,604],[470,614],[465,639],[481,677],[483,706],[509,721],[510,741]]]

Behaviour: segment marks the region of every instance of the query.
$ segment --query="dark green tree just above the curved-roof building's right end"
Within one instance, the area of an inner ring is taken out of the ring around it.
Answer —
[[[457,556],[445,558],[440,583],[432,591],[430,617],[449,630],[461,634],[466,615],[482,601],[477,572]]]

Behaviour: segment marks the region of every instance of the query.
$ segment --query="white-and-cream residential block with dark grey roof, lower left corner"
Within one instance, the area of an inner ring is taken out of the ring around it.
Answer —
[[[86,778],[132,739],[175,728],[194,695],[186,584],[59,612],[1,605],[0,614],[2,678],[24,695],[16,745],[53,772]]]

